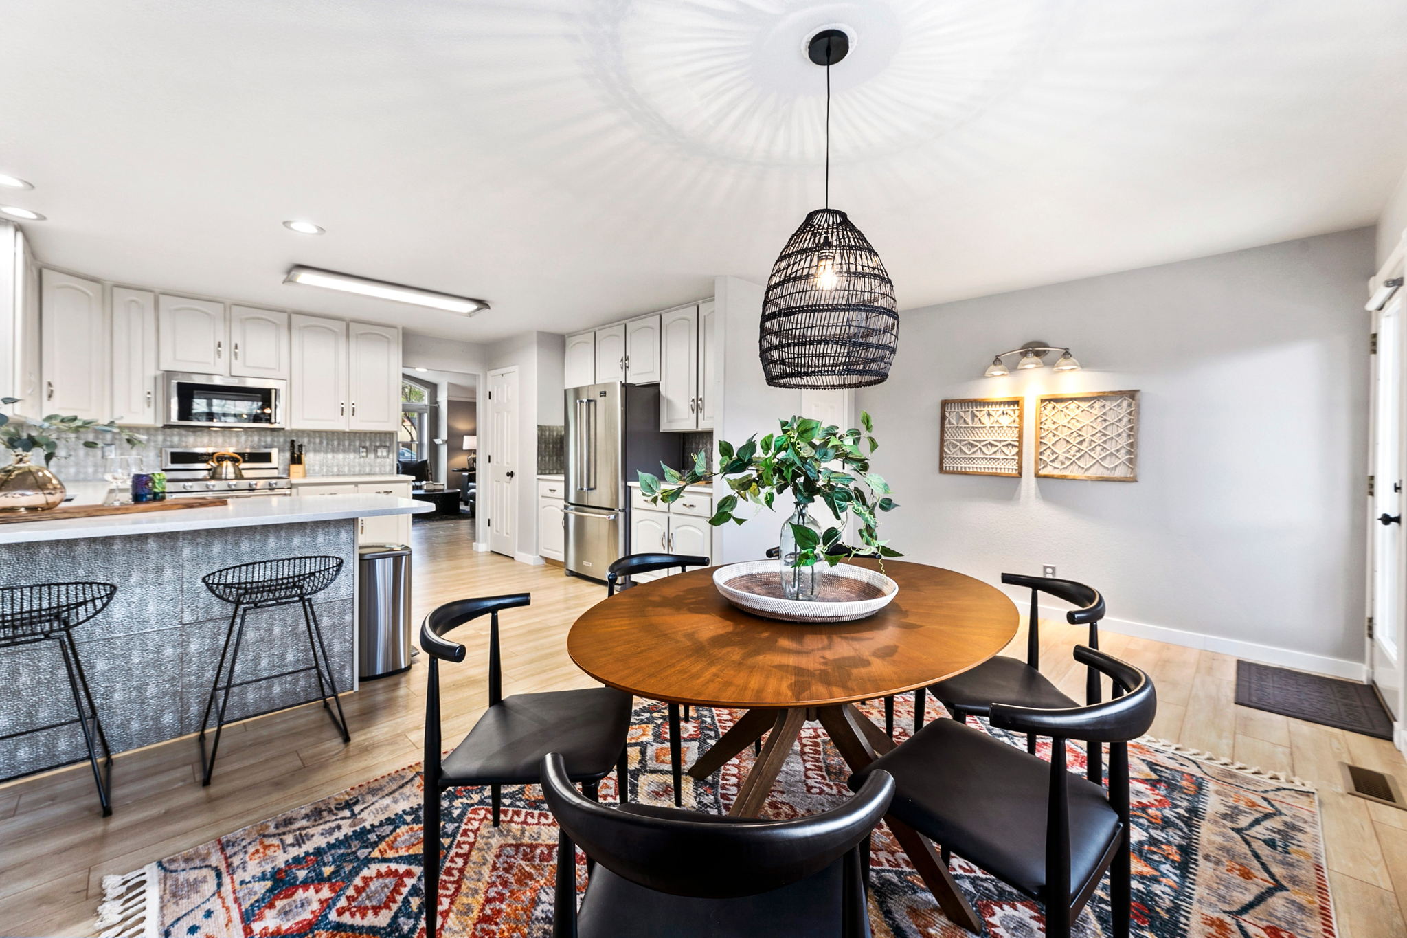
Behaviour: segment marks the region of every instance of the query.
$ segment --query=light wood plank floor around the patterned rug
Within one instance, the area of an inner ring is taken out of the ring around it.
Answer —
[[[470,548],[473,526],[415,526],[416,623],[464,596],[530,592],[532,606],[502,616],[505,692],[591,686],[567,657],[566,634],[605,588]],[[1117,603],[1117,598],[1112,598]],[[1043,624],[1045,672],[1076,699],[1083,672],[1069,657],[1082,630]],[[445,740],[461,737],[483,712],[487,620],[456,633],[470,645],[445,668]],[[1024,630],[1010,654],[1024,653]],[[1233,703],[1235,660],[1106,633],[1103,647],[1148,669],[1158,686],[1154,734],[1249,765],[1290,772],[1318,786],[1330,879],[1345,938],[1407,937],[1407,811],[1351,797],[1338,762],[1392,772],[1407,790],[1407,766],[1387,743],[1248,710]],[[194,738],[118,755],[114,813],[98,816],[86,765],[0,786],[0,934],[91,934],[101,879],[267,818],[419,758],[425,667],[370,682],[343,699],[352,743],[343,745],[321,707],[307,706],[228,728],[210,788],[200,786]]]

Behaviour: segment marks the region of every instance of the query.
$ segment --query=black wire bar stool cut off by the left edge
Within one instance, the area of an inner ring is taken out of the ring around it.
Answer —
[[[69,675],[69,690],[73,692],[73,707],[77,717],[49,723],[48,726],[21,730],[0,735],[0,741],[17,735],[42,733],[61,726],[77,723],[83,730],[83,745],[87,747],[89,762],[93,765],[93,780],[97,783],[97,797],[103,804],[103,817],[113,813],[113,751],[107,745],[107,734],[97,719],[97,705],[89,689],[79,661],[79,650],[73,643],[73,626],[83,624],[107,608],[117,595],[111,584],[37,584],[32,586],[0,588],[0,648],[27,645],[53,640],[63,654],[63,669]],[[91,724],[91,726],[90,726]],[[103,747],[103,765],[98,766],[97,747]]]

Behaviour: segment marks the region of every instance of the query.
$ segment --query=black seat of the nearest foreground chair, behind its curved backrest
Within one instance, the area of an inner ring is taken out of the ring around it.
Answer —
[[[702,814],[649,804],[622,804],[623,814],[711,824],[756,824],[756,818]],[[667,896],[616,876],[597,863],[577,913],[578,938],[837,938],[843,861],[801,882],[744,899]]]

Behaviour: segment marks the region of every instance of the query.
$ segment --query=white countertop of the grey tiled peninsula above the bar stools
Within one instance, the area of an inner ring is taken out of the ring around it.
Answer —
[[[380,477],[386,478],[386,477]],[[429,502],[394,495],[324,495],[321,498],[232,498],[218,508],[183,508],[167,512],[68,518],[52,522],[0,525],[0,544],[80,537],[125,537],[162,532],[211,530],[335,522],[376,515],[422,515],[433,512]],[[270,533],[270,536],[273,536]]]

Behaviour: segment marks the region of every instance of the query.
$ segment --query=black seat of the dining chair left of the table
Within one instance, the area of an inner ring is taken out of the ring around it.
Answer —
[[[504,698],[445,757],[443,783],[535,785],[543,752],[561,752],[574,782],[602,779],[625,748],[630,710],[615,688]]]

